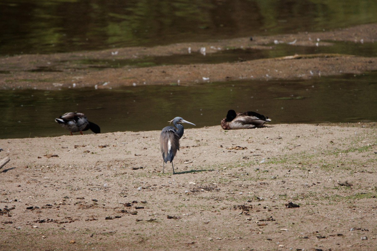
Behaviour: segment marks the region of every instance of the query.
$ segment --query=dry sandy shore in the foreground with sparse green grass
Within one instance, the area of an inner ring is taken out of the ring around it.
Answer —
[[[376,128],[190,128],[176,175],[159,131],[3,139],[0,249],[375,250]]]

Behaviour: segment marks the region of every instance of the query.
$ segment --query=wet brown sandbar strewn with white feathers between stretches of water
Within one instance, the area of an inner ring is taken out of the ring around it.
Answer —
[[[274,41],[292,46],[331,46],[331,41],[374,43],[377,24],[320,33],[298,33],[270,37],[237,38],[210,43],[182,43],[156,47],[128,47],[97,52],[57,53],[51,55],[19,55],[0,58],[0,88],[59,88],[95,87],[117,88],[129,85],[190,85],[206,81],[229,81],[237,79],[307,79],[343,73],[359,74],[377,70],[376,58],[352,55],[291,55],[283,58],[220,63],[165,65],[155,67],[104,68],[98,70],[90,65],[79,64],[83,60],[138,59],[144,56],[172,56],[199,52],[215,53],[226,48],[269,50]],[[317,40],[319,39],[319,41]],[[117,53],[116,55],[113,55]],[[208,80],[207,80],[208,78]],[[103,85],[107,83],[106,85]]]

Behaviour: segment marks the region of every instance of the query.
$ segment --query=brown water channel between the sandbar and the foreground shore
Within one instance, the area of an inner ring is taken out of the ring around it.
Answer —
[[[256,111],[274,123],[377,121],[377,73],[309,81],[234,81],[114,90],[3,90],[0,138],[68,135],[55,117],[79,111],[102,132],[160,130],[176,116],[219,125],[229,109]],[[220,129],[220,126],[219,126]],[[89,132],[87,132],[89,133]]]

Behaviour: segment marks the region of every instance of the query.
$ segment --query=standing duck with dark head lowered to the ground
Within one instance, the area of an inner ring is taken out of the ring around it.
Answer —
[[[55,119],[62,127],[68,129],[72,135],[72,132],[80,132],[88,129],[92,130],[94,133],[100,133],[101,129],[95,123],[88,121],[85,114],[83,113],[65,113],[58,119]]]

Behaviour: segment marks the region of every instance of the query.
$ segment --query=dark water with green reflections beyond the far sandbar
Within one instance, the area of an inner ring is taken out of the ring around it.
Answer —
[[[0,55],[155,46],[377,22],[370,0],[3,0]]]

